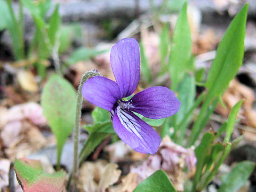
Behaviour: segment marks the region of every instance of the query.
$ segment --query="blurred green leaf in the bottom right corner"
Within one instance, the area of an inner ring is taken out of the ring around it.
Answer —
[[[222,183],[218,192],[236,192],[250,177],[255,164],[249,161],[237,163],[230,173],[222,176]]]

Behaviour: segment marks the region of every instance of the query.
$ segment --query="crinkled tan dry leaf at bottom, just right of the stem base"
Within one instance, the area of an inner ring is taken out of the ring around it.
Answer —
[[[121,170],[117,167],[117,164],[106,161],[84,163],[79,171],[78,188],[83,192],[105,191],[118,181]]]

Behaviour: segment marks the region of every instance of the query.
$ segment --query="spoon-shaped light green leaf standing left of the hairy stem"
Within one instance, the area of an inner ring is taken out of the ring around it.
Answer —
[[[75,123],[75,89],[66,79],[53,75],[43,89],[41,103],[43,114],[57,139],[58,163],[60,163],[63,145]]]

